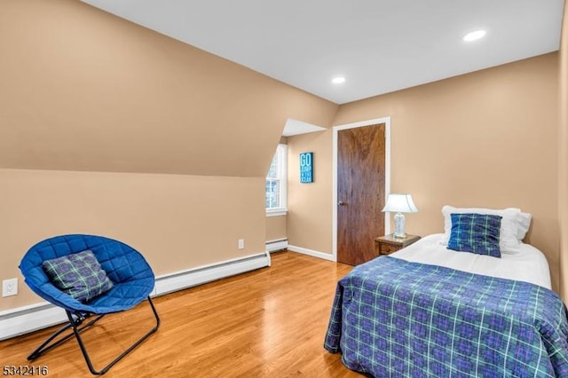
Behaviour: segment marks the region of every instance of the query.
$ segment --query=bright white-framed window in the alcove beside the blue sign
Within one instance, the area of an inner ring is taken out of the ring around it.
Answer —
[[[266,175],[266,215],[286,214],[288,146],[278,145]]]

